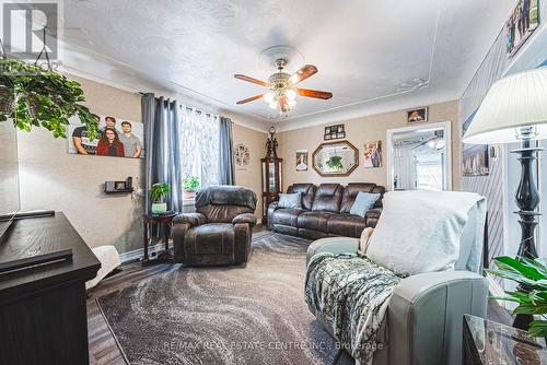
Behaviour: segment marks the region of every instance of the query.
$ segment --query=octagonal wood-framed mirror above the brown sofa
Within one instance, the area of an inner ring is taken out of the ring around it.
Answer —
[[[348,141],[326,142],[315,149],[312,161],[323,177],[349,176],[359,166],[359,150]]]

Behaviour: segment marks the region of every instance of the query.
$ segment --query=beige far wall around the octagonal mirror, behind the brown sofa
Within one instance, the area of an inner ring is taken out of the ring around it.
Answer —
[[[434,104],[429,107],[429,122],[452,121],[452,162],[453,188],[459,189],[459,126],[457,122],[457,102]],[[347,140],[359,150],[359,166],[348,177],[321,177],[311,166],[312,153],[323,142],[325,127],[328,125],[344,123]],[[314,126],[303,129],[281,132],[278,136],[279,151],[283,157],[283,189],[294,182],[376,182],[386,186],[387,172],[385,168],[386,131],[392,128],[408,127],[406,111],[398,110],[375,116],[366,116],[350,120],[336,121],[328,125]],[[363,144],[368,141],[382,141],[382,167],[363,167]],[[309,151],[307,172],[295,170],[295,151]]]

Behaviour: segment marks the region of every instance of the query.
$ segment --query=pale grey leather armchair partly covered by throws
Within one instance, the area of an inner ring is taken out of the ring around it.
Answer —
[[[477,225],[485,226],[486,202],[479,201],[468,217],[455,271],[415,274],[395,286],[384,320],[388,343],[374,353],[374,364],[462,363],[463,315],[486,317],[488,302],[488,281],[480,274],[481,270],[465,270],[469,262],[481,262],[484,231],[477,229]],[[306,258],[310,262],[319,252],[356,255],[358,248],[358,238],[323,238],[309,247]],[[312,306],[310,310],[333,335],[325,318]]]

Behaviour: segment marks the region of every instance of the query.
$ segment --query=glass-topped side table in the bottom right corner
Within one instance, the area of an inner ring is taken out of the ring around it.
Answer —
[[[465,315],[463,364],[547,364],[547,350],[525,331]]]

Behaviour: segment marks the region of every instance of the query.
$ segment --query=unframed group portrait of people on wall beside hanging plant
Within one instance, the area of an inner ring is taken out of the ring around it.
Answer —
[[[88,128],[78,117],[70,119],[67,127],[68,153],[144,158],[144,126],[115,116],[93,114],[98,125],[98,137],[92,140]]]

